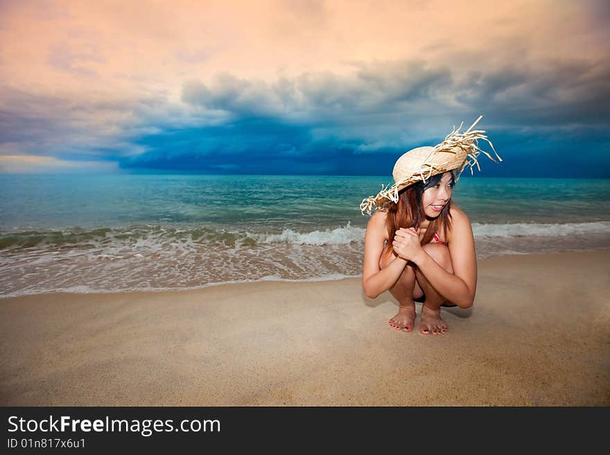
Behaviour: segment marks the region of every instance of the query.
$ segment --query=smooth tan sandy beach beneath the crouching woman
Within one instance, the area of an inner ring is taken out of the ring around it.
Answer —
[[[3,298],[0,404],[608,406],[609,263],[480,260],[441,336],[390,328],[360,278]]]

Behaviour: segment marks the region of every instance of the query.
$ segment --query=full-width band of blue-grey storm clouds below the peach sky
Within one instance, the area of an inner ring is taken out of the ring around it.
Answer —
[[[389,175],[401,152],[484,114],[478,126],[505,159],[485,163],[484,175],[609,177],[609,57],[466,73],[422,60],[354,68],[189,80],[181,105],[163,95],[85,102],[5,87],[0,145],[125,169]]]

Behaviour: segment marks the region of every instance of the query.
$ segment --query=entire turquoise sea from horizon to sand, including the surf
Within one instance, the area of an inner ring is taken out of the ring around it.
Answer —
[[[0,296],[360,276],[391,177],[1,175]],[[478,258],[610,249],[610,180],[462,177]]]

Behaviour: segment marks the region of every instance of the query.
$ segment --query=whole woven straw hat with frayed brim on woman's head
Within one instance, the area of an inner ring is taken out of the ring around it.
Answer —
[[[383,188],[383,185],[381,185],[381,191],[376,196],[363,199],[363,202],[360,203],[362,214],[364,215],[366,211],[370,215],[372,208],[378,208],[384,202],[398,202],[398,192],[400,190],[420,180],[426,183],[426,179],[433,175],[442,174],[448,170],[457,170],[455,173],[455,179],[457,180],[466,166],[470,166],[471,174],[474,173],[472,168],[475,165],[478,170],[481,170],[477,161],[477,157],[481,153],[487,155],[491,161],[497,162],[485,150],[478,148],[479,139],[487,141],[498,160],[502,161],[496,153],[494,145],[485,136],[485,131],[473,130],[474,125],[481,118],[482,116],[479,116],[476,122],[463,133],[460,133],[460,130],[464,122],[457,130],[454,126],[453,131],[446,136],[445,140],[434,147],[418,147],[403,154],[394,164],[394,170],[392,171],[394,185],[389,188]]]

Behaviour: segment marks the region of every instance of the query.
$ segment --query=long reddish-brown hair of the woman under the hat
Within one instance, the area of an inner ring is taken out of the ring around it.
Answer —
[[[394,235],[400,228],[419,228],[419,225],[426,220],[426,214],[424,208],[421,206],[421,196],[424,195],[424,191],[439,184],[443,177],[443,174],[437,174],[430,177],[426,184],[423,181],[417,182],[403,188],[398,193],[398,203],[388,201],[386,202],[381,210],[387,212],[385,217],[385,229],[390,240],[387,240],[383,249],[382,255],[389,254],[392,251],[394,244]],[[451,183],[455,184],[455,174],[451,171]],[[430,221],[426,228],[424,238],[421,239],[421,244],[430,243],[435,233],[442,229],[443,237],[447,238],[447,229],[451,227],[451,214],[449,209],[451,208],[451,199],[447,201],[447,204],[443,207],[441,213]]]

